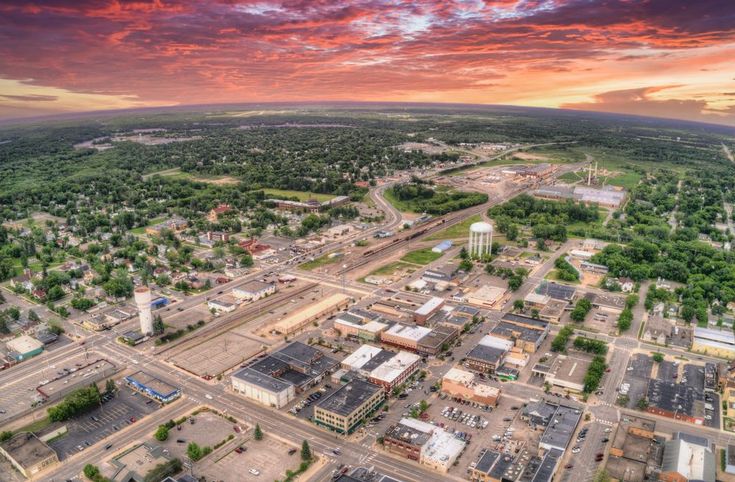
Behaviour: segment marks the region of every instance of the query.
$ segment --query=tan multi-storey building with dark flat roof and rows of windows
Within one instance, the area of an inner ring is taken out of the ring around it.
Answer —
[[[351,434],[385,400],[385,391],[373,383],[355,379],[320,400],[314,407],[317,425]]]

